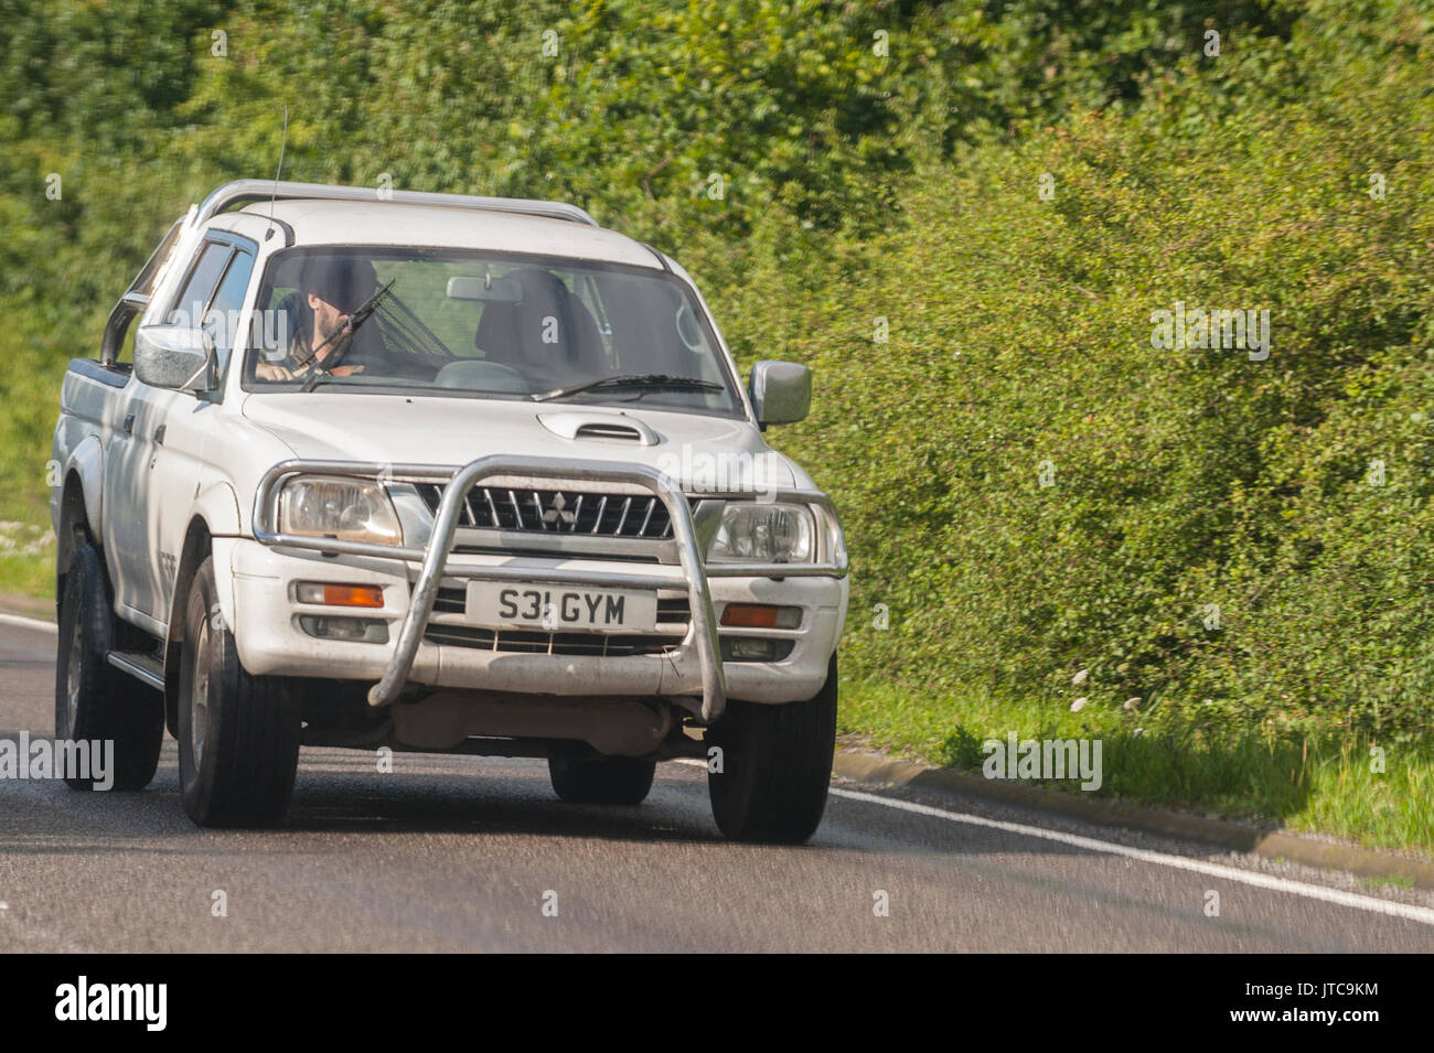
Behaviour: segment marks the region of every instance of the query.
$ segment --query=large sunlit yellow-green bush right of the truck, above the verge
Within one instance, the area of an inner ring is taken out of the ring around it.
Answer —
[[[1427,729],[1431,37],[1382,27],[1192,59],[913,183],[800,342],[860,673],[1068,699],[1088,668],[1093,705],[1197,726]],[[1152,347],[1177,302],[1268,309],[1269,357]]]

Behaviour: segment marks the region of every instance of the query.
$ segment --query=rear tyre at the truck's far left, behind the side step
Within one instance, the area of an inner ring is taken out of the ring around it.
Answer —
[[[165,738],[163,695],[109,663],[116,636],[138,629],[116,625],[105,563],[93,544],[75,550],[60,596],[59,655],[54,662],[54,738],[112,741],[110,789],[143,789],[155,778]],[[66,778],[93,789],[90,778]]]

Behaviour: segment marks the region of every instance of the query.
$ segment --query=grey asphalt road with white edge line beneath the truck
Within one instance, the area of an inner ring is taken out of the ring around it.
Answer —
[[[53,652],[0,623],[0,734],[52,732]],[[1424,893],[977,799],[839,782],[770,848],[721,840],[678,764],[597,808],[541,761],[304,749],[267,832],[195,828],[176,778],[169,739],[141,794],[0,781],[0,953],[1434,950]]]

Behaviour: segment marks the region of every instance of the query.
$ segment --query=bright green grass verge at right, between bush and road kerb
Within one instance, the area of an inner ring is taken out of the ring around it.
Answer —
[[[1086,792],[1434,855],[1434,738],[1196,726],[1120,708],[1071,712],[1060,701],[921,695],[870,681],[842,683],[837,728],[971,774],[988,756],[982,744],[1011,732],[1021,741],[1100,739],[1101,785]],[[1083,792],[1078,778],[1022,781]]]

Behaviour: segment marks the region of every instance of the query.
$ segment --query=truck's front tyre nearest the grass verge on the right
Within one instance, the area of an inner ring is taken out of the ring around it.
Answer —
[[[760,705],[728,699],[707,741],[721,749],[721,771],[708,761],[713,818],[733,841],[802,844],[826,808],[836,749],[836,655],[826,683],[806,702]]]

